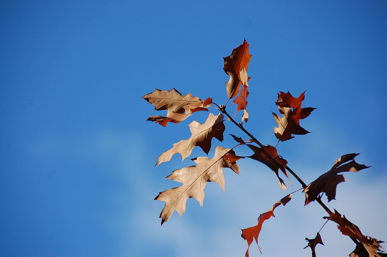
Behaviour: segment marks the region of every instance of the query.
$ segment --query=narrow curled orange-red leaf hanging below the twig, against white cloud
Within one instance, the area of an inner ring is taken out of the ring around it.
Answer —
[[[283,206],[285,206],[285,204],[287,204],[290,200],[291,200],[291,194],[288,194],[287,196],[285,196],[284,198],[279,200],[277,203],[275,203],[273,205],[273,207],[268,212],[260,214],[259,218],[258,218],[258,224],[257,225],[255,225],[253,227],[250,227],[250,228],[245,228],[245,229],[242,230],[241,237],[244,240],[247,240],[247,244],[248,244],[247,251],[246,251],[246,254],[245,254],[246,257],[248,257],[248,249],[250,248],[250,245],[253,242],[253,239],[255,239],[255,242],[257,242],[257,245],[258,245],[259,232],[262,229],[262,224],[264,223],[264,221],[268,220],[271,217],[275,217],[274,213],[273,213],[274,209],[276,209],[281,204],[283,204]],[[259,247],[259,245],[258,245],[258,249],[262,253],[261,248]]]

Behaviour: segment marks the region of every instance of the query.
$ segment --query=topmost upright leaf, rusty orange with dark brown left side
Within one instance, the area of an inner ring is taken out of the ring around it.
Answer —
[[[247,71],[248,63],[250,62],[251,54],[248,53],[248,43],[246,40],[243,40],[243,44],[233,49],[230,56],[223,57],[224,59],[224,67],[223,70],[230,76],[228,82],[226,82],[226,91],[229,99],[234,98],[239,92],[239,86],[247,83],[246,80],[249,78],[244,77],[244,71]],[[241,82],[241,71],[242,71],[242,79]],[[246,75],[247,76],[247,75]]]

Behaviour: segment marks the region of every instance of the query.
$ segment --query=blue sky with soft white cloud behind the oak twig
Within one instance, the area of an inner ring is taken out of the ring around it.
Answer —
[[[203,208],[188,199],[161,227],[164,203],[153,199],[180,184],[163,177],[194,163],[175,155],[154,168],[156,158],[208,114],[164,128],[146,118],[166,112],[140,99],[175,87],[226,102],[222,57],[243,38],[253,55],[245,128],[275,145],[277,92],[307,90],[303,107],[318,109],[301,126],[312,133],[279,143],[279,153],[308,184],[360,152],[357,162],[372,167],[344,174],[327,205],[387,240],[386,28],[385,1],[2,1],[0,256],[244,256],[240,228],[289,192],[269,168],[240,160],[240,176],[224,169],[226,194],[207,184]],[[227,122],[224,134],[212,145],[244,136]],[[311,255],[304,239],[325,213],[304,197],[275,210],[263,253],[253,243],[250,256]],[[319,257],[354,249],[333,223],[321,236]]]

